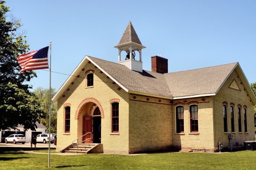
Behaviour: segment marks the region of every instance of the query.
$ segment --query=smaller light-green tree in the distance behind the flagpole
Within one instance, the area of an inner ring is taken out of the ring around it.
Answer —
[[[33,91],[34,95],[38,97],[40,101],[40,108],[43,111],[43,117],[40,122],[49,127],[49,89],[43,89],[38,87]],[[51,88],[51,99],[56,94],[55,89]],[[48,131],[49,132],[49,131]],[[51,133],[57,132],[57,102],[52,101],[51,103]]]

